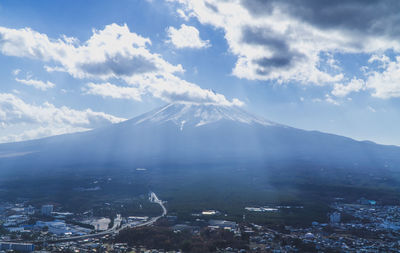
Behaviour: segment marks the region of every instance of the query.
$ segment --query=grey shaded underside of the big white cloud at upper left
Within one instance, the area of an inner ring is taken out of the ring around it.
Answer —
[[[90,75],[109,75],[130,76],[143,74],[157,70],[154,62],[143,56],[133,58],[118,54],[113,57],[107,57],[104,62],[91,62],[81,64],[80,69]]]

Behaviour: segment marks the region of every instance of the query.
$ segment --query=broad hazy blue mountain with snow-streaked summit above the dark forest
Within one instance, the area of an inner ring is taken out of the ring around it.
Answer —
[[[0,145],[0,167],[255,164],[400,167],[400,148],[277,124],[237,107],[172,103],[88,132]]]

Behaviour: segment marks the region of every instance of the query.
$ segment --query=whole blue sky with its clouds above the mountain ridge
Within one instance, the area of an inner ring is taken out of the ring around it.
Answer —
[[[0,0],[0,141],[191,101],[400,145],[398,13],[390,0]]]

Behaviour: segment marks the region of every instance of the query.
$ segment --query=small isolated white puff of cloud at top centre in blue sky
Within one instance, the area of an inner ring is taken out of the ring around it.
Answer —
[[[206,48],[211,46],[209,40],[200,38],[199,30],[194,26],[182,24],[179,29],[170,26],[167,33],[169,42],[177,48]]]

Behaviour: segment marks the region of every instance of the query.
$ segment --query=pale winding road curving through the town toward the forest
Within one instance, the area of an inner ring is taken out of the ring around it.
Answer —
[[[83,240],[83,239],[88,239],[88,238],[95,238],[95,237],[102,237],[105,235],[112,235],[112,234],[118,234],[121,230],[125,228],[135,228],[135,227],[145,227],[145,226],[150,226],[154,224],[156,221],[158,221],[161,217],[164,217],[167,215],[167,208],[164,206],[164,203],[161,199],[157,197],[157,195],[154,192],[150,192],[150,197],[149,197],[150,202],[159,204],[162,208],[162,214],[156,217],[151,218],[150,220],[139,223],[139,224],[131,224],[127,223],[121,226],[122,222],[122,217],[120,214],[117,215],[117,217],[114,219],[114,225],[112,228],[102,231],[102,232],[97,232],[94,234],[87,234],[87,235],[79,235],[79,236],[70,236],[70,237],[65,237],[65,238],[58,238],[55,240],[46,240],[46,241],[41,241],[41,242],[65,242],[65,241],[76,241],[76,240]],[[37,242],[36,242],[37,243]]]

